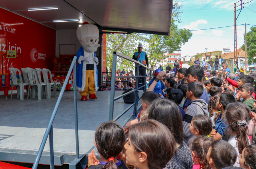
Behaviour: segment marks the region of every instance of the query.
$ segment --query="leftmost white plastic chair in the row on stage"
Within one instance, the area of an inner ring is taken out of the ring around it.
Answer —
[[[13,87],[16,86],[17,87],[17,98],[20,98],[20,100],[23,100],[24,99],[24,86],[27,86],[29,84],[23,83],[22,78],[21,78],[21,72],[19,69],[10,67],[9,70],[11,72],[11,77],[12,77],[12,82],[13,82],[12,83],[11,99],[12,99],[12,95],[13,95]],[[17,71],[19,72],[19,80],[20,80],[19,83],[17,81]]]

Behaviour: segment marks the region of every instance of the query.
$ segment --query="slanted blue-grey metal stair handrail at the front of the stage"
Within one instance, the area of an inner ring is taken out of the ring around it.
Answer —
[[[52,129],[52,123],[53,123],[53,120],[55,118],[55,115],[56,115],[56,112],[58,110],[58,107],[59,107],[59,103],[61,102],[61,99],[62,99],[62,96],[63,96],[63,93],[65,91],[65,88],[66,88],[66,85],[68,83],[68,79],[70,77],[70,74],[71,74],[71,71],[72,71],[72,68],[73,68],[73,78],[74,78],[74,86],[76,86],[76,66],[75,66],[75,61],[76,61],[76,56],[74,56],[73,58],[73,61],[70,65],[70,68],[68,70],[68,74],[67,74],[67,77],[65,79],[65,82],[62,86],[62,89],[61,89],[61,92],[59,93],[59,96],[58,96],[58,99],[57,99],[57,102],[55,104],[55,107],[53,109],[53,112],[52,112],[52,116],[51,116],[51,119],[50,119],[50,122],[46,128],[46,131],[45,131],[45,135],[44,135],[44,138],[42,139],[42,142],[41,142],[41,145],[40,145],[40,148],[37,152],[37,155],[36,155],[36,159],[35,159],[35,162],[33,164],[33,167],[32,169],[36,169],[38,164],[39,164],[39,161],[40,161],[40,158],[41,158],[41,155],[42,155],[42,151],[44,150],[44,147],[45,147],[45,143],[46,143],[46,140],[48,138],[48,135],[49,135],[49,142],[50,142],[50,165],[51,165],[51,169],[54,169],[54,154],[53,154],[53,129]],[[75,143],[76,143],[76,159],[79,159],[79,140],[78,140],[78,115],[77,115],[77,100],[76,100],[76,90],[74,90],[74,112],[75,112]]]

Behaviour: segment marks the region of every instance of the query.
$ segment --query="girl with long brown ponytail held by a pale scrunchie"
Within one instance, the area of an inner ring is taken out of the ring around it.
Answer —
[[[237,151],[237,160],[234,166],[239,167],[239,155],[246,146],[250,145],[248,133],[248,117],[251,109],[243,103],[229,103],[225,109],[225,117],[231,136],[228,140]]]

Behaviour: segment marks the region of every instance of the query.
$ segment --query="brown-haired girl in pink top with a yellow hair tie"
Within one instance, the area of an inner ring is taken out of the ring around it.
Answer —
[[[193,169],[208,169],[209,164],[206,160],[206,155],[211,147],[211,143],[215,140],[210,136],[199,136],[195,138],[190,146],[190,151],[193,156]]]

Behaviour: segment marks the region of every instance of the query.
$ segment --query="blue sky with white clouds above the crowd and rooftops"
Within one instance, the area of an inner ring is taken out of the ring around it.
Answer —
[[[221,50],[229,47],[234,51],[234,3],[238,0],[180,0],[183,5],[181,14],[182,23],[176,23],[179,28],[188,28],[192,31],[191,39],[181,47],[182,56],[193,56],[202,53],[205,48],[207,51]],[[244,0],[246,3],[250,0]],[[241,3],[241,2],[239,2]],[[238,19],[239,24],[256,25],[256,0],[245,5]],[[246,8],[247,7],[247,8]],[[238,8],[241,8],[239,6]],[[238,9],[237,8],[237,9]],[[249,9],[248,9],[249,8]],[[251,10],[253,11],[251,11]],[[238,11],[239,13],[239,11]],[[237,13],[237,15],[238,15]],[[247,16],[247,17],[246,17]],[[226,28],[217,28],[209,30],[198,30],[214,27],[232,26]],[[250,25],[246,25],[247,32],[250,31]],[[237,26],[237,47],[243,45],[243,33],[245,26]]]

